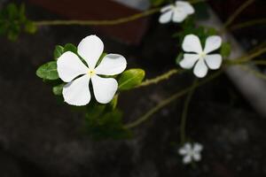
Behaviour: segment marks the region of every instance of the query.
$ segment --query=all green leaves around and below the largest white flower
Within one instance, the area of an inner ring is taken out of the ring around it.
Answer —
[[[77,48],[67,43],[64,47],[57,45],[53,51],[54,59],[44,65],[41,65],[36,75],[49,83],[52,92],[58,98],[62,98],[62,90],[66,83],[59,79],[57,72],[57,59],[66,51],[77,53]],[[101,58],[104,58],[103,53]],[[83,61],[84,62],[84,61]],[[139,85],[145,77],[145,71],[141,69],[129,69],[121,74],[119,82],[120,90],[132,89]],[[95,99],[90,100],[90,104],[86,106],[72,106],[74,111],[84,112],[85,114],[85,131],[94,139],[125,139],[131,137],[128,129],[123,127],[122,113],[117,109],[118,94],[113,96],[113,100],[109,104],[98,104]]]

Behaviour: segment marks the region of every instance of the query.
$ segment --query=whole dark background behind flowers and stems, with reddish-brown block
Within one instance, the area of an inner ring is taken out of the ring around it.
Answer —
[[[201,14],[199,20],[209,19],[207,11],[212,9],[224,22],[244,2],[209,0],[194,7]],[[118,19],[152,7],[149,0],[0,0],[0,8],[9,3],[26,4],[27,17],[36,21]],[[265,0],[257,0],[234,23],[266,18],[265,8]],[[129,140],[93,141],[82,131],[82,115],[59,103],[51,87],[35,76],[38,66],[53,58],[55,45],[78,44],[94,34],[104,41],[107,52],[125,56],[128,68],[145,69],[146,78],[165,73],[176,67],[180,43],[172,35],[180,27],[161,25],[159,15],[108,27],[41,27],[35,35],[20,35],[16,42],[0,38],[0,177],[266,176],[262,113],[266,109],[256,108],[252,97],[246,97],[238,81],[226,73],[192,97],[187,135],[204,145],[202,160],[193,166],[183,165],[177,154],[184,98],[134,129]],[[265,42],[265,31],[264,24],[229,33],[247,51]],[[265,73],[265,68],[259,69]],[[122,93],[123,121],[137,119],[193,78],[192,73],[177,74],[160,84]],[[246,88],[252,87],[257,86],[246,83]]]

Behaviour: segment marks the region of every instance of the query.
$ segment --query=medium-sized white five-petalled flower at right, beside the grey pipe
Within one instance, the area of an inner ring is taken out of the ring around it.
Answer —
[[[207,74],[209,69],[218,69],[222,65],[222,56],[220,54],[208,54],[221,47],[222,38],[218,35],[212,35],[207,37],[205,42],[205,48],[202,50],[200,39],[196,35],[186,35],[182,44],[183,50],[186,52],[184,58],[179,63],[184,69],[191,69],[195,64],[193,73],[203,78]]]

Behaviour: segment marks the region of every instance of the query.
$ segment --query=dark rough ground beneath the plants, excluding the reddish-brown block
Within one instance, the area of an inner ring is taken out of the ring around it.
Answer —
[[[59,104],[35,70],[51,60],[56,44],[77,44],[94,33],[87,27],[43,27],[36,35],[20,36],[18,42],[0,39],[1,177],[266,175],[265,119],[225,75],[198,89],[192,99],[187,134],[204,145],[197,165],[184,166],[176,153],[183,98],[134,129],[130,140],[96,142],[84,135],[82,115]],[[129,67],[145,68],[150,78],[175,67],[176,42],[171,33],[171,27],[153,26],[139,46],[98,35],[106,50],[123,54]],[[192,74],[184,73],[122,94],[124,121],[137,119],[191,82]]]

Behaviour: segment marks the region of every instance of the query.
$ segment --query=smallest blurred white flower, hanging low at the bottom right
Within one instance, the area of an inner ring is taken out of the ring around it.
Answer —
[[[200,161],[200,151],[203,150],[203,146],[200,143],[186,142],[182,148],[179,149],[179,154],[184,156],[183,163],[190,164],[192,161]]]

